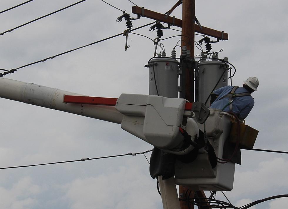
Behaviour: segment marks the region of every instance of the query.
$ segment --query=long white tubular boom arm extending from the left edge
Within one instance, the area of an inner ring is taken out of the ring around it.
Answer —
[[[57,88],[0,78],[0,97],[27,104],[73,113],[89,118],[121,124],[123,115],[114,106],[68,104],[64,95],[85,96]]]

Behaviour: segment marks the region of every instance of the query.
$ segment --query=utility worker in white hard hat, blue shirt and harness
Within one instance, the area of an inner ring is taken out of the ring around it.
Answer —
[[[235,113],[240,120],[244,120],[254,106],[251,93],[257,91],[258,78],[249,77],[244,81],[243,87],[224,86],[211,94],[210,109],[219,109],[224,112]]]

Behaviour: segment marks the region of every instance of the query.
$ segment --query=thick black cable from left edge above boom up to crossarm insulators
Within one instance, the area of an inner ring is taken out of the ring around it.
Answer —
[[[154,23],[154,22],[153,22],[153,23]],[[143,27],[145,27],[145,26],[152,25],[153,23],[149,23],[149,24],[140,26],[140,27],[138,27],[138,28],[134,28],[134,29],[132,29],[131,31],[135,31],[135,30],[140,29],[140,28],[143,28]],[[123,32],[123,33],[124,33],[124,32]],[[21,67],[15,68],[15,69],[12,68],[12,69],[9,70],[9,71],[6,71],[6,72],[4,72],[4,73],[0,73],[0,77],[3,77],[3,76],[5,76],[5,75],[7,75],[7,74],[9,74],[9,73],[14,73],[15,71],[17,71],[17,70],[20,69],[20,68],[24,68],[24,67],[27,67],[27,66],[30,66],[30,65],[34,65],[34,64],[39,63],[39,62],[44,62],[44,61],[46,61],[46,60],[48,60],[48,59],[53,59],[53,58],[58,57],[58,56],[61,56],[61,55],[63,55],[63,54],[66,54],[66,53],[69,53],[69,52],[72,52],[72,51],[76,51],[76,50],[78,50],[78,49],[82,49],[82,48],[84,48],[84,47],[86,47],[86,46],[91,46],[91,45],[93,45],[93,44],[97,44],[97,43],[100,43],[100,42],[102,42],[102,41],[106,41],[106,40],[108,40],[108,39],[112,39],[112,38],[114,38],[114,37],[116,37],[116,36],[123,35],[123,33],[116,34],[116,35],[114,35],[114,36],[110,36],[110,37],[108,37],[108,38],[101,39],[101,40],[99,40],[99,41],[95,41],[95,42],[93,42],[93,43],[91,43],[91,44],[87,44],[87,45],[84,45],[84,46],[80,46],[80,47],[78,47],[78,48],[71,49],[71,50],[69,50],[69,51],[65,51],[65,52],[62,52],[62,53],[60,53],[60,54],[57,54],[57,55],[54,55],[54,56],[51,56],[51,57],[47,57],[47,58],[45,58],[45,59],[42,59],[42,60],[39,60],[39,61],[36,61],[36,62],[32,62],[32,63],[23,65],[23,66],[21,66]]]

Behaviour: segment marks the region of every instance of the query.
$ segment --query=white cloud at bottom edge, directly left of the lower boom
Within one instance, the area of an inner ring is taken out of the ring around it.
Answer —
[[[79,178],[66,185],[71,208],[145,209],[156,208],[161,201],[156,181],[141,173],[140,166],[110,170],[106,175]]]

